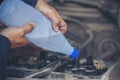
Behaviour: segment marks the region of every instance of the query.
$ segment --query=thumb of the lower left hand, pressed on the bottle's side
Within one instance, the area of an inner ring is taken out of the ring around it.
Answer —
[[[33,28],[35,27],[35,23],[33,22],[29,22],[27,23],[26,25],[24,25],[23,27],[20,27],[23,32],[26,34],[26,33],[29,33],[33,30]]]

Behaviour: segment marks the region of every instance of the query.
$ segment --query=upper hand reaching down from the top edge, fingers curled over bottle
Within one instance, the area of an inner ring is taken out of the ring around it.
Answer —
[[[66,22],[62,19],[60,14],[52,6],[48,5],[45,2],[45,0],[38,0],[36,9],[41,11],[52,21],[54,31],[58,31],[58,29],[60,29],[62,33],[66,32]]]

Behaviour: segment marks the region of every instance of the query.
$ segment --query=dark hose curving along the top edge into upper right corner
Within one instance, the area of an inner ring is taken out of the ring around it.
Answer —
[[[65,0],[64,3],[74,3],[74,4],[79,4],[85,7],[89,8],[95,8],[99,10],[106,18],[110,19],[114,24],[117,25],[117,17],[114,16],[110,10],[107,8],[104,8],[101,3],[98,2],[93,2],[89,0]]]

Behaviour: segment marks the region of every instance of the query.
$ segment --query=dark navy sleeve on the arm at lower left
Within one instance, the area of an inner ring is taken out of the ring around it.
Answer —
[[[5,80],[6,77],[7,54],[10,46],[9,39],[0,35],[0,80]]]

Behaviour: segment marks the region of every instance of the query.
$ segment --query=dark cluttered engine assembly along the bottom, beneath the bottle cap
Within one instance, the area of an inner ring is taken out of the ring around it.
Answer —
[[[25,57],[26,58],[26,57]],[[92,56],[87,59],[67,59],[51,52],[41,51],[39,56],[28,57],[26,64],[9,64],[8,77],[24,79],[99,79],[107,71],[107,66],[102,61],[96,61]],[[98,77],[99,76],[99,77]]]

